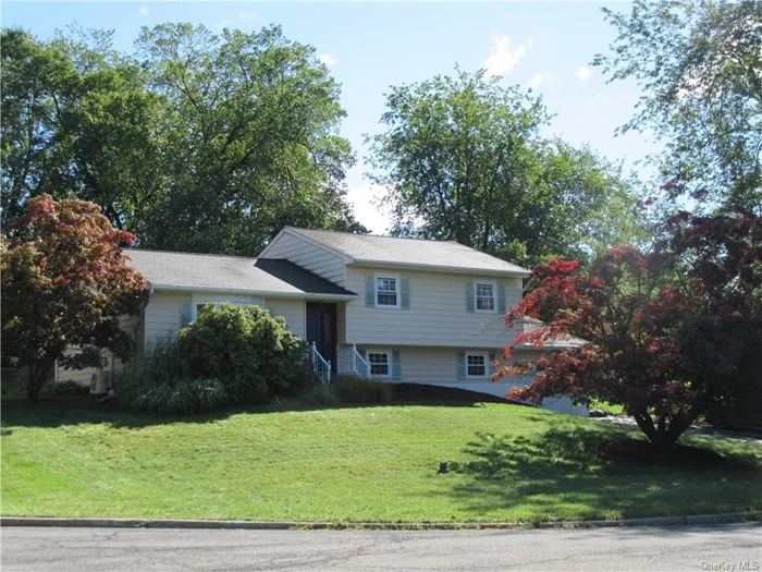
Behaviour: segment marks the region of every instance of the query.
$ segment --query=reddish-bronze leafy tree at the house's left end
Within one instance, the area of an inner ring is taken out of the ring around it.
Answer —
[[[101,350],[126,357],[130,336],[119,318],[147,300],[143,276],[125,264],[118,231],[100,207],[82,200],[32,198],[2,236],[2,354],[29,368],[36,400],[56,361],[79,369],[103,365]],[[69,345],[82,353],[64,354]]]

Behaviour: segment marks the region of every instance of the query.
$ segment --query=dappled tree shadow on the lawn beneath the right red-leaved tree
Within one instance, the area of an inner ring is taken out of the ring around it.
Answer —
[[[471,514],[512,513],[540,521],[762,508],[762,451],[706,443],[724,454],[722,463],[623,460],[601,452],[602,443],[637,435],[563,422],[532,438],[477,434],[464,451],[467,460],[453,464],[459,482],[440,494],[454,497]]]

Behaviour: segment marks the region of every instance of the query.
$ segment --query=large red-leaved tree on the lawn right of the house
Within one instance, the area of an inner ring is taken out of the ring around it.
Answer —
[[[664,447],[739,387],[762,390],[759,219],[680,212],[669,230],[650,255],[616,247],[586,270],[563,259],[534,267],[529,292],[506,315],[520,331],[494,379],[537,375],[509,398],[620,404]],[[511,363],[516,348],[574,338],[577,346]]]

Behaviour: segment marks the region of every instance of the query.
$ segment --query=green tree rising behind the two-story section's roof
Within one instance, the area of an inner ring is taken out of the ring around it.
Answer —
[[[393,87],[386,130],[369,137],[393,232],[519,264],[589,258],[638,238],[628,179],[587,147],[545,141],[549,119],[540,99],[483,72]]]

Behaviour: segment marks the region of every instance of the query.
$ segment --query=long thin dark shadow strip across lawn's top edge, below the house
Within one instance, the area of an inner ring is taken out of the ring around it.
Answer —
[[[404,387],[402,387],[404,386]],[[465,390],[418,387],[411,384],[395,388],[392,401],[384,403],[305,403],[296,398],[280,399],[258,406],[228,406],[210,413],[161,416],[150,413],[125,411],[118,402],[97,403],[89,395],[42,397],[30,403],[21,393],[2,395],[2,435],[12,435],[11,427],[62,427],[71,425],[108,424],[114,428],[143,428],[174,423],[207,424],[238,414],[270,414],[282,412],[310,412],[343,409],[437,406],[482,407],[484,403],[515,405],[507,400]],[[524,404],[520,404],[524,405]],[[539,417],[539,416],[538,416]]]

